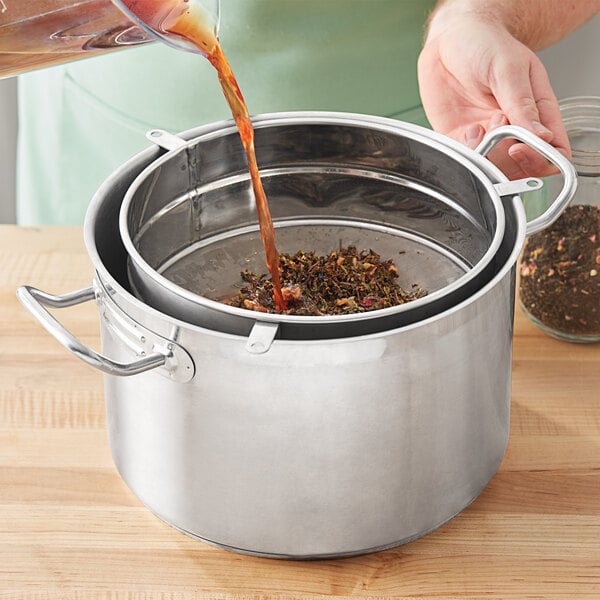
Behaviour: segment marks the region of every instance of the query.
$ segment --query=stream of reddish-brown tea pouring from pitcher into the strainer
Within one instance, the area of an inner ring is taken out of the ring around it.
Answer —
[[[235,119],[248,159],[248,170],[250,171],[252,188],[256,198],[260,235],[265,248],[267,267],[273,281],[275,307],[277,311],[286,310],[279,277],[279,253],[275,247],[273,220],[256,162],[254,128],[242,92],[218,39],[189,9],[187,0],[174,0],[173,2],[165,2],[164,0],[124,0],[123,4],[155,31],[168,36],[183,38],[183,40],[193,44],[217,70],[223,94]]]

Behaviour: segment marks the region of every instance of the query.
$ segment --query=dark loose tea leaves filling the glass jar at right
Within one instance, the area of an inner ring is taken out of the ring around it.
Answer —
[[[600,334],[600,208],[570,206],[532,235],[520,275],[521,302],[542,325],[573,335]]]

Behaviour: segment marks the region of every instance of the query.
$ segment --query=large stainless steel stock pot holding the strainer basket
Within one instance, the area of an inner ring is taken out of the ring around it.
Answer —
[[[314,325],[312,337],[287,339],[268,322],[241,335],[152,307],[132,291],[119,215],[131,184],[163,155],[156,147],[117,170],[90,205],[93,285],[61,296],[19,288],[52,335],[106,373],[114,462],[161,519],[237,552],[353,555],[432,531],[494,475],[509,433],[515,264],[532,224],[482,158],[508,133],[479,153],[427,135],[500,189],[505,227],[477,289],[420,320],[340,337],[319,337]],[[574,171],[564,174],[568,202]],[[92,299],[102,353],[46,310]]]

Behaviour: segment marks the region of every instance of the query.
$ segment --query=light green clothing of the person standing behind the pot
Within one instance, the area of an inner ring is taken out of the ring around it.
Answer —
[[[251,114],[336,110],[426,124],[417,87],[434,0],[222,0],[219,39]],[[231,117],[216,72],[160,42],[19,81],[17,219],[81,224],[102,181],[149,145]]]

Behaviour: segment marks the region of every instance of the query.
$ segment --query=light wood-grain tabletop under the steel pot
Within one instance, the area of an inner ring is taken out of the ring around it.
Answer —
[[[81,228],[0,227],[0,598],[600,598],[600,345],[553,340],[517,310],[510,442],[481,496],[396,549],[269,560],[175,531],[119,477],[102,376],[15,297],[91,277]],[[99,346],[93,303],[60,319]]]

